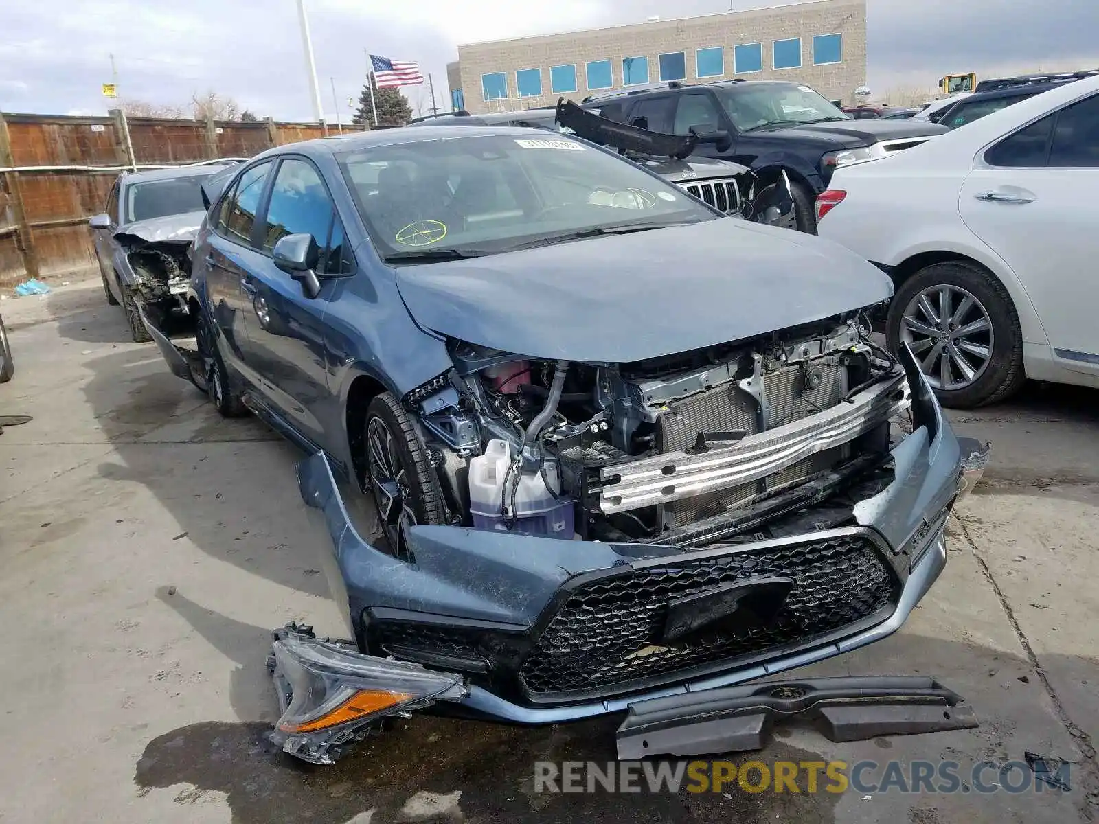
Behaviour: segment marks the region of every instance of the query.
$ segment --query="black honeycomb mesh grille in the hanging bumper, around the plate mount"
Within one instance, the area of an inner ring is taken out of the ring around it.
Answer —
[[[766,628],[662,643],[667,603],[722,583],[784,577],[793,589]],[[630,571],[579,584],[539,636],[520,670],[534,697],[621,691],[643,679],[728,664],[812,641],[892,606],[897,580],[864,535]]]

